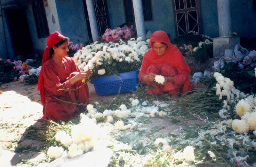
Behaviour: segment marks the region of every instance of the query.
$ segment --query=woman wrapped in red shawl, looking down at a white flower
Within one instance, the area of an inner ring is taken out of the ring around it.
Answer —
[[[171,44],[164,31],[154,32],[149,40],[149,49],[142,61],[139,79],[151,85],[147,93],[162,95],[169,92],[172,98],[178,98],[178,93],[186,93],[192,89],[188,74],[191,72],[185,58],[176,46]],[[164,76],[163,84],[155,84],[155,76]]]

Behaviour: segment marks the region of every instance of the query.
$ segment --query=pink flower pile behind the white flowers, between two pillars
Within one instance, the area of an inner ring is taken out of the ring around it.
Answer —
[[[134,36],[134,31],[132,30],[133,26],[131,28],[124,26],[122,28],[118,27],[116,29],[111,30],[110,28],[106,29],[105,33],[102,35],[102,40],[107,42],[116,42],[120,39],[128,39]]]

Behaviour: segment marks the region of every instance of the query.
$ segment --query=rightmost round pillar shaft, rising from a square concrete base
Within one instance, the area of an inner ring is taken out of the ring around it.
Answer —
[[[230,0],[217,0],[220,37],[231,37]]]

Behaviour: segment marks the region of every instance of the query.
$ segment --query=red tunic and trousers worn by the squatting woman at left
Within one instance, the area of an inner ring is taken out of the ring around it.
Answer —
[[[63,88],[75,89],[83,84],[82,81],[77,81],[73,86],[70,85],[69,79],[76,75],[79,69],[72,58],[64,57],[63,60],[64,68],[50,58],[44,63],[41,70],[44,79],[44,116],[54,121],[69,120],[76,110],[76,104],[72,103],[90,102],[87,84],[75,91],[63,90]]]

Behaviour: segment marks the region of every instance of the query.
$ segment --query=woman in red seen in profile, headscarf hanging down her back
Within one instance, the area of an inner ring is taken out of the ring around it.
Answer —
[[[80,72],[73,59],[67,56],[68,51],[67,37],[58,31],[49,35],[38,80],[43,118],[67,121],[76,111],[77,102],[90,102],[88,85],[82,80],[91,76],[92,71]]]

